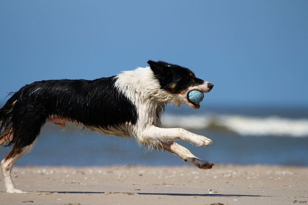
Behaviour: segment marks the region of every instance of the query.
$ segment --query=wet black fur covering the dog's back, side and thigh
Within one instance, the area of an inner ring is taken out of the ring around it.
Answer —
[[[18,152],[31,144],[51,116],[69,118],[87,127],[108,129],[136,124],[137,108],[118,90],[114,77],[96,80],[48,80],[25,85],[0,109],[0,140],[13,128],[9,145]]]

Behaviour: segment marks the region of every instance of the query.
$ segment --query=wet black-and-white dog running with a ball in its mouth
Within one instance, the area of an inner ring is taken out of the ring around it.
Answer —
[[[211,169],[213,162],[199,159],[175,142],[207,146],[213,143],[210,139],[183,128],[161,128],[160,119],[167,103],[198,109],[200,104],[191,102],[188,92],[209,92],[214,85],[179,65],[151,60],[147,63],[148,67],[109,78],[38,81],[11,93],[0,109],[0,145],[13,147],[1,161],[6,192],[24,193],[15,188],[11,170],[16,160],[32,150],[46,122],[63,128],[66,122],[73,122],[94,132],[131,137],[200,169]]]

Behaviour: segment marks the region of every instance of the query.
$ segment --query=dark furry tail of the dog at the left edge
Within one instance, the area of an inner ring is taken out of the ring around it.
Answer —
[[[12,111],[17,102],[16,95],[10,94],[12,97],[0,109],[0,146],[11,145],[13,139],[13,123]]]

